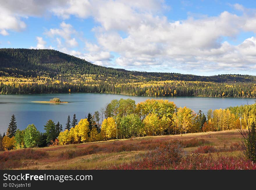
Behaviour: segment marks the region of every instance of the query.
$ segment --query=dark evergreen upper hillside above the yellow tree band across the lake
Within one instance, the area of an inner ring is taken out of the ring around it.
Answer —
[[[141,76],[144,80],[183,80],[202,82],[253,82],[256,76],[251,75],[215,75],[197,76],[179,73],[148,73],[128,71],[124,69],[108,68],[91,64],[80,59],[56,50],[48,49],[0,49],[0,70],[6,76],[49,76],[54,77],[60,74],[97,74],[121,78]],[[7,74],[8,73],[8,74]]]

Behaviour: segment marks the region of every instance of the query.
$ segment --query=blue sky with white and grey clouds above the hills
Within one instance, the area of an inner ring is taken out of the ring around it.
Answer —
[[[255,75],[255,33],[254,0],[0,3],[0,48],[55,49],[127,70]]]

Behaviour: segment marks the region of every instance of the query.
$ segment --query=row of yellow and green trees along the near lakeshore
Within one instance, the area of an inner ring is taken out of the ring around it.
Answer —
[[[48,120],[45,132],[39,132],[34,124],[24,130],[17,129],[14,115],[7,133],[0,134],[0,149],[43,147],[77,144],[111,139],[127,139],[141,136],[175,135],[231,129],[247,129],[255,122],[256,103],[208,110],[206,115],[199,110],[177,107],[168,100],[147,99],[135,104],[132,99],[113,99],[105,108],[78,122],[76,115],[67,117],[65,129],[57,122]],[[102,120],[100,124],[99,121]]]

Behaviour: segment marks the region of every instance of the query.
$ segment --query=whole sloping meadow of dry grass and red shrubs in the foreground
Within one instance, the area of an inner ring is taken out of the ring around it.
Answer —
[[[255,169],[240,142],[231,130],[20,149],[0,153],[0,169]]]

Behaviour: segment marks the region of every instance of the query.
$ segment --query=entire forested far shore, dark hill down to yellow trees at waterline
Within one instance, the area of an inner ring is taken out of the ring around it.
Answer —
[[[170,70],[171,72],[171,70]],[[97,92],[255,97],[256,76],[148,73],[97,66],[56,50],[0,49],[0,93]]]

